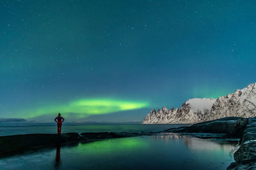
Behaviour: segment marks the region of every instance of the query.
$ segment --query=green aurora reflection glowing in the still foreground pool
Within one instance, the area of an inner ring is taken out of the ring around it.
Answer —
[[[106,139],[102,141],[95,141],[92,143],[79,144],[77,146],[77,152],[81,154],[102,154],[112,153],[118,151],[127,152],[129,150],[138,150],[140,148],[148,148],[149,143],[147,140],[138,137],[131,138],[118,138],[118,139]]]

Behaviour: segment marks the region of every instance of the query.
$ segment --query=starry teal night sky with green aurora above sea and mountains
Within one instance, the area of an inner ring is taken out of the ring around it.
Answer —
[[[0,1],[0,117],[140,122],[256,81],[255,1]]]

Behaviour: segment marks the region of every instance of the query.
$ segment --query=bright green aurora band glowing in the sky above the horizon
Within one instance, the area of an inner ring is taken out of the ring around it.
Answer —
[[[80,99],[67,104],[54,104],[42,108],[24,111],[22,118],[33,118],[51,113],[79,113],[82,117],[86,115],[99,115],[114,113],[116,111],[136,110],[145,108],[147,102],[122,101],[118,99]]]

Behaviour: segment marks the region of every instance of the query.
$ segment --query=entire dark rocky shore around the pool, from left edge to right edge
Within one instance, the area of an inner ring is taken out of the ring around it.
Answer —
[[[226,117],[189,127],[166,129],[167,133],[178,133],[196,138],[238,139],[241,145],[234,153],[234,160],[227,169],[256,169],[256,117]],[[154,132],[156,133],[156,132]],[[72,146],[102,139],[127,138],[152,135],[153,132],[84,132],[67,134],[20,134],[0,136],[0,157],[56,146]],[[158,132],[157,132],[158,133]]]

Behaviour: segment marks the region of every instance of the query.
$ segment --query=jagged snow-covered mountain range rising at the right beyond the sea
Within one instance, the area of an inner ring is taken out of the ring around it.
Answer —
[[[222,117],[255,117],[256,83],[218,99],[194,98],[181,108],[152,110],[143,124],[195,124]]]

